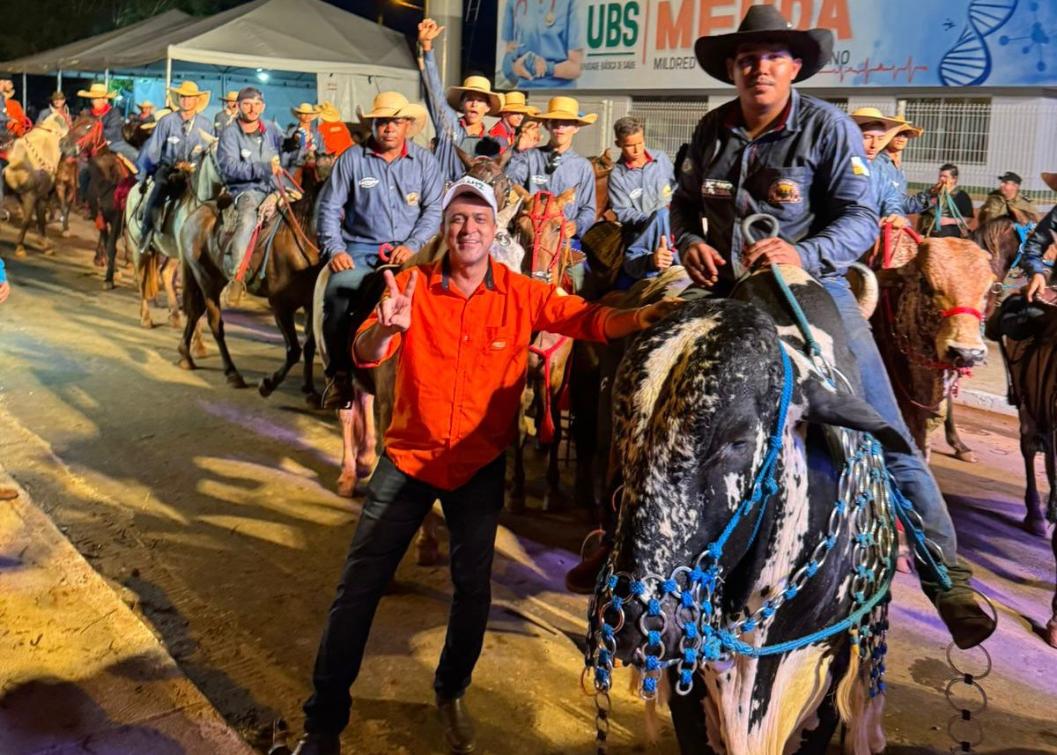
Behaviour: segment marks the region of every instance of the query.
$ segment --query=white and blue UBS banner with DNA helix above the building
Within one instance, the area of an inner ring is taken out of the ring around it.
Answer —
[[[501,89],[723,86],[698,37],[737,30],[753,0],[499,0]],[[756,0],[755,4],[761,4]],[[834,34],[805,87],[1057,86],[1054,0],[771,0],[797,29]]]

